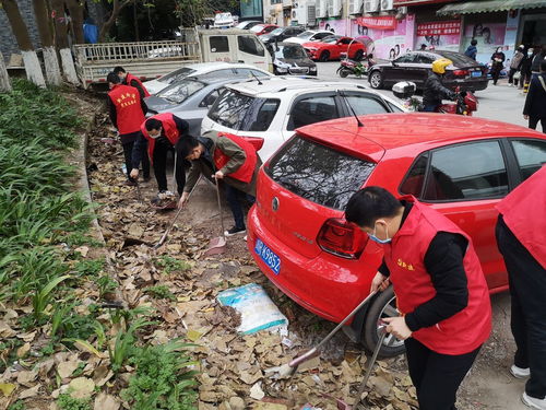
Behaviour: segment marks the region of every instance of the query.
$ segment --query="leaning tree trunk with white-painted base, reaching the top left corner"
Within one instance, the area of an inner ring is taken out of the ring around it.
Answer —
[[[28,31],[23,17],[21,16],[16,1],[3,0],[1,1],[1,4],[10,22],[13,35],[17,40],[21,54],[23,55],[26,77],[36,85],[45,87],[46,81],[44,80],[44,73],[41,72],[38,56],[36,56],[31,36],[28,36]]]

